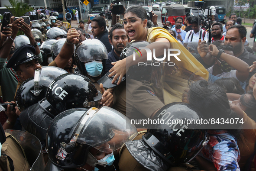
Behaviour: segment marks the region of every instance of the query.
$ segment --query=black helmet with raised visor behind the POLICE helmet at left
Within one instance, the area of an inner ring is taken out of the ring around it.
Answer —
[[[35,71],[35,76],[24,81],[16,93],[16,105],[22,112],[45,97],[49,84],[59,75],[65,74],[62,68],[43,66]]]

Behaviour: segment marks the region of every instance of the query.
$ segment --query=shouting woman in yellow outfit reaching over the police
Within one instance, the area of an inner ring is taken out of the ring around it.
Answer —
[[[175,99],[174,101],[181,101],[181,95],[183,94],[184,89],[187,87],[187,80],[182,79],[182,71],[191,71],[192,73],[196,73],[206,80],[208,79],[208,72],[183,45],[178,43],[178,41],[173,38],[172,35],[170,35],[167,30],[163,29],[162,27],[148,28],[148,20],[146,19],[146,16],[146,10],[144,10],[143,7],[135,5],[130,6],[126,10],[123,17],[124,29],[126,30],[126,33],[129,35],[130,39],[133,41],[151,42],[151,44],[146,46],[146,48],[151,49],[151,52],[153,52],[153,49],[156,49],[156,56],[163,55],[164,49],[168,48],[178,49],[180,51],[180,55],[177,56],[180,61],[178,61],[178,59],[174,56],[170,57],[170,62],[175,63],[175,67],[178,68],[179,72],[176,72],[174,75],[169,75],[168,77],[165,76],[166,84],[163,94],[164,101],[166,101],[165,104],[173,102],[173,100],[170,101],[170,99]],[[153,14],[153,16],[156,17],[156,14]],[[140,52],[141,55],[139,55],[139,53],[136,54],[135,61],[133,61],[133,55],[131,55],[120,61],[112,63],[114,66],[112,69],[110,69],[111,73],[109,75],[109,77],[115,75],[112,83],[114,83],[119,76],[122,78],[130,66],[138,65],[138,62],[146,61],[146,50],[141,49]],[[166,80],[166,78],[170,79]],[[120,82],[121,79],[118,81],[118,84],[120,84]],[[165,94],[167,92],[171,94],[171,96],[166,96]]]

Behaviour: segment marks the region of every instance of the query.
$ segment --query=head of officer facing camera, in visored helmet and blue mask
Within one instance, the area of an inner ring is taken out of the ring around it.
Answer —
[[[76,48],[75,51],[75,61],[78,66],[79,71],[81,74],[85,75],[88,74],[91,77],[98,77],[103,74],[106,61],[104,59],[107,59],[107,48],[105,45],[98,39],[87,39],[81,42],[81,45]],[[98,62],[97,60],[102,60],[102,66],[99,65],[97,73],[95,73],[95,69],[93,68],[87,68],[89,66],[88,64],[91,62]],[[88,62],[87,64],[84,64],[84,62]],[[87,66],[86,66],[87,65]],[[86,70],[87,68],[87,70]],[[90,70],[89,70],[90,69]],[[92,69],[92,70],[91,70]]]

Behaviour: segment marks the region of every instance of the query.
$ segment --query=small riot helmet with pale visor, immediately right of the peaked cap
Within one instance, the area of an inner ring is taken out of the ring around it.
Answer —
[[[42,43],[40,46],[40,52],[42,54],[42,65],[49,65],[53,60],[52,60],[52,54],[51,54],[51,49],[52,49],[52,44],[56,42],[55,39],[48,39]]]

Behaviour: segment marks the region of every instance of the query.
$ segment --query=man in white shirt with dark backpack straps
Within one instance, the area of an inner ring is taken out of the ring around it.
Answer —
[[[201,21],[199,19],[199,23],[200,22]],[[201,39],[202,41],[205,40],[206,42],[208,42],[208,33],[203,29],[199,28],[197,16],[193,17],[193,19],[191,20],[191,26],[192,26],[192,30],[188,31],[185,36],[185,40],[184,40],[185,47],[187,47],[189,42],[198,42],[199,39]]]

